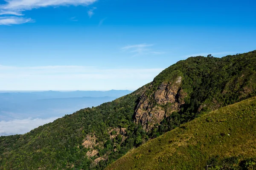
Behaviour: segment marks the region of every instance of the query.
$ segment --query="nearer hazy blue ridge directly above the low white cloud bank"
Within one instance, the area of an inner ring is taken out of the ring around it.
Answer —
[[[77,97],[58,99],[23,100],[0,102],[0,121],[13,119],[62,117],[81,108],[100,105],[113,101],[115,97]]]

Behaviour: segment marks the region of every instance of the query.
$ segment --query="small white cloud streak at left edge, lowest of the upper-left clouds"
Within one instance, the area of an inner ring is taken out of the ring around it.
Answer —
[[[23,17],[0,17],[0,25],[14,25],[14,24],[23,24],[32,22],[31,18],[23,18]]]

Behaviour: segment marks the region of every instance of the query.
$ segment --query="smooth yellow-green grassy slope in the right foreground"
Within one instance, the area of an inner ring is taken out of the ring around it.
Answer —
[[[256,156],[256,97],[201,116],[132,150],[107,170],[203,170],[212,156]]]

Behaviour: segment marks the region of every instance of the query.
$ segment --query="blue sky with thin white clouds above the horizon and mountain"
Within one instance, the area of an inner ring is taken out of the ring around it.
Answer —
[[[135,90],[181,59],[255,50],[255,7],[255,0],[0,0],[0,90]]]

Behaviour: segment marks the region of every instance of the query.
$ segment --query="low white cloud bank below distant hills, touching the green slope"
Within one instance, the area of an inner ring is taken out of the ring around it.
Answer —
[[[0,136],[24,134],[36,127],[53,122],[56,119],[58,119],[58,117],[48,119],[29,118],[22,120],[15,119],[11,121],[0,121]]]

